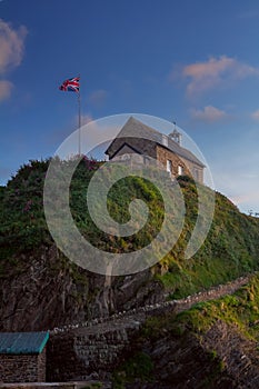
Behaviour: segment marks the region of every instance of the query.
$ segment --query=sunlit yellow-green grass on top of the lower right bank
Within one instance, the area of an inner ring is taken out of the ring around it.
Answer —
[[[145,338],[153,340],[162,336],[165,328],[173,336],[183,336],[187,331],[206,333],[218,320],[235,326],[243,336],[259,340],[259,275],[233,295],[218,300],[198,302],[191,309],[179,315],[150,318],[142,329]],[[210,358],[217,358],[211,350]]]

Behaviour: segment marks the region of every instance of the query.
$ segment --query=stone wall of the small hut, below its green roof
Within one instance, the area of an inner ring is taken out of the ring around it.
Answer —
[[[46,349],[40,355],[0,355],[1,381],[46,381]]]

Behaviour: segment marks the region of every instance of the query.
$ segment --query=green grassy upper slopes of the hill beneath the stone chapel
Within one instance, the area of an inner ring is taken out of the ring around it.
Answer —
[[[32,160],[19,169],[7,187],[0,188],[1,275],[7,263],[16,266],[19,255],[52,245],[42,207],[48,166],[49,160]],[[136,236],[114,238],[106,235],[91,221],[86,202],[88,183],[98,167],[98,162],[83,159],[71,182],[70,206],[81,233],[97,247],[112,252],[130,252],[146,246],[156,237],[163,220],[160,192],[150,182],[137,177],[120,180],[109,192],[111,216],[119,222],[126,222],[130,201],[141,198],[149,207],[149,219]],[[187,208],[183,231],[170,253],[153,267],[155,277],[171,296],[187,296],[258,269],[259,220],[240,213],[220,193],[216,193],[215,217],[203,246],[195,257],[185,259],[185,248],[197,218],[197,189],[195,182],[186,177],[180,177],[179,183]],[[209,191],[208,188],[206,190]]]

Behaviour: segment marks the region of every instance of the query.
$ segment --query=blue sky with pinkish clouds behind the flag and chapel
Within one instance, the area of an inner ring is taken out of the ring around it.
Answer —
[[[0,0],[0,184],[82,121],[176,121],[215,188],[259,212],[258,0]]]

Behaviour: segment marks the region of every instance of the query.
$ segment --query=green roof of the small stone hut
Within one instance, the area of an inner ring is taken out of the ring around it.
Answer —
[[[0,355],[41,353],[49,332],[0,332]]]

